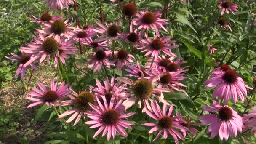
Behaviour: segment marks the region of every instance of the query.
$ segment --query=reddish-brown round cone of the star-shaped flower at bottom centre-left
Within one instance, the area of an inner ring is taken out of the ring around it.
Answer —
[[[117,123],[119,115],[114,109],[108,109],[102,114],[101,119],[106,125],[113,125]]]

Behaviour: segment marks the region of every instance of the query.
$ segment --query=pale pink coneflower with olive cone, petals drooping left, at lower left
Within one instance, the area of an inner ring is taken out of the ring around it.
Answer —
[[[67,119],[66,122],[70,123],[75,119],[75,117],[77,117],[74,123],[74,125],[76,125],[81,119],[81,117],[85,116],[85,112],[91,110],[91,107],[89,106],[88,103],[93,104],[94,101],[96,101],[96,98],[89,91],[83,91],[83,92],[80,92],[79,94],[77,94],[75,91],[72,91],[72,95],[69,95],[69,98],[71,100],[61,101],[58,104],[58,106],[75,105],[75,108],[69,109],[63,114],[59,115],[59,118],[63,118],[72,114],[72,116],[69,117],[69,119]]]

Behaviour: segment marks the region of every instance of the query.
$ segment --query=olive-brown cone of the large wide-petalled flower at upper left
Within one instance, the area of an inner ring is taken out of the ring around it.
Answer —
[[[43,41],[42,48],[46,53],[52,54],[59,49],[59,43],[53,37],[48,37]]]

